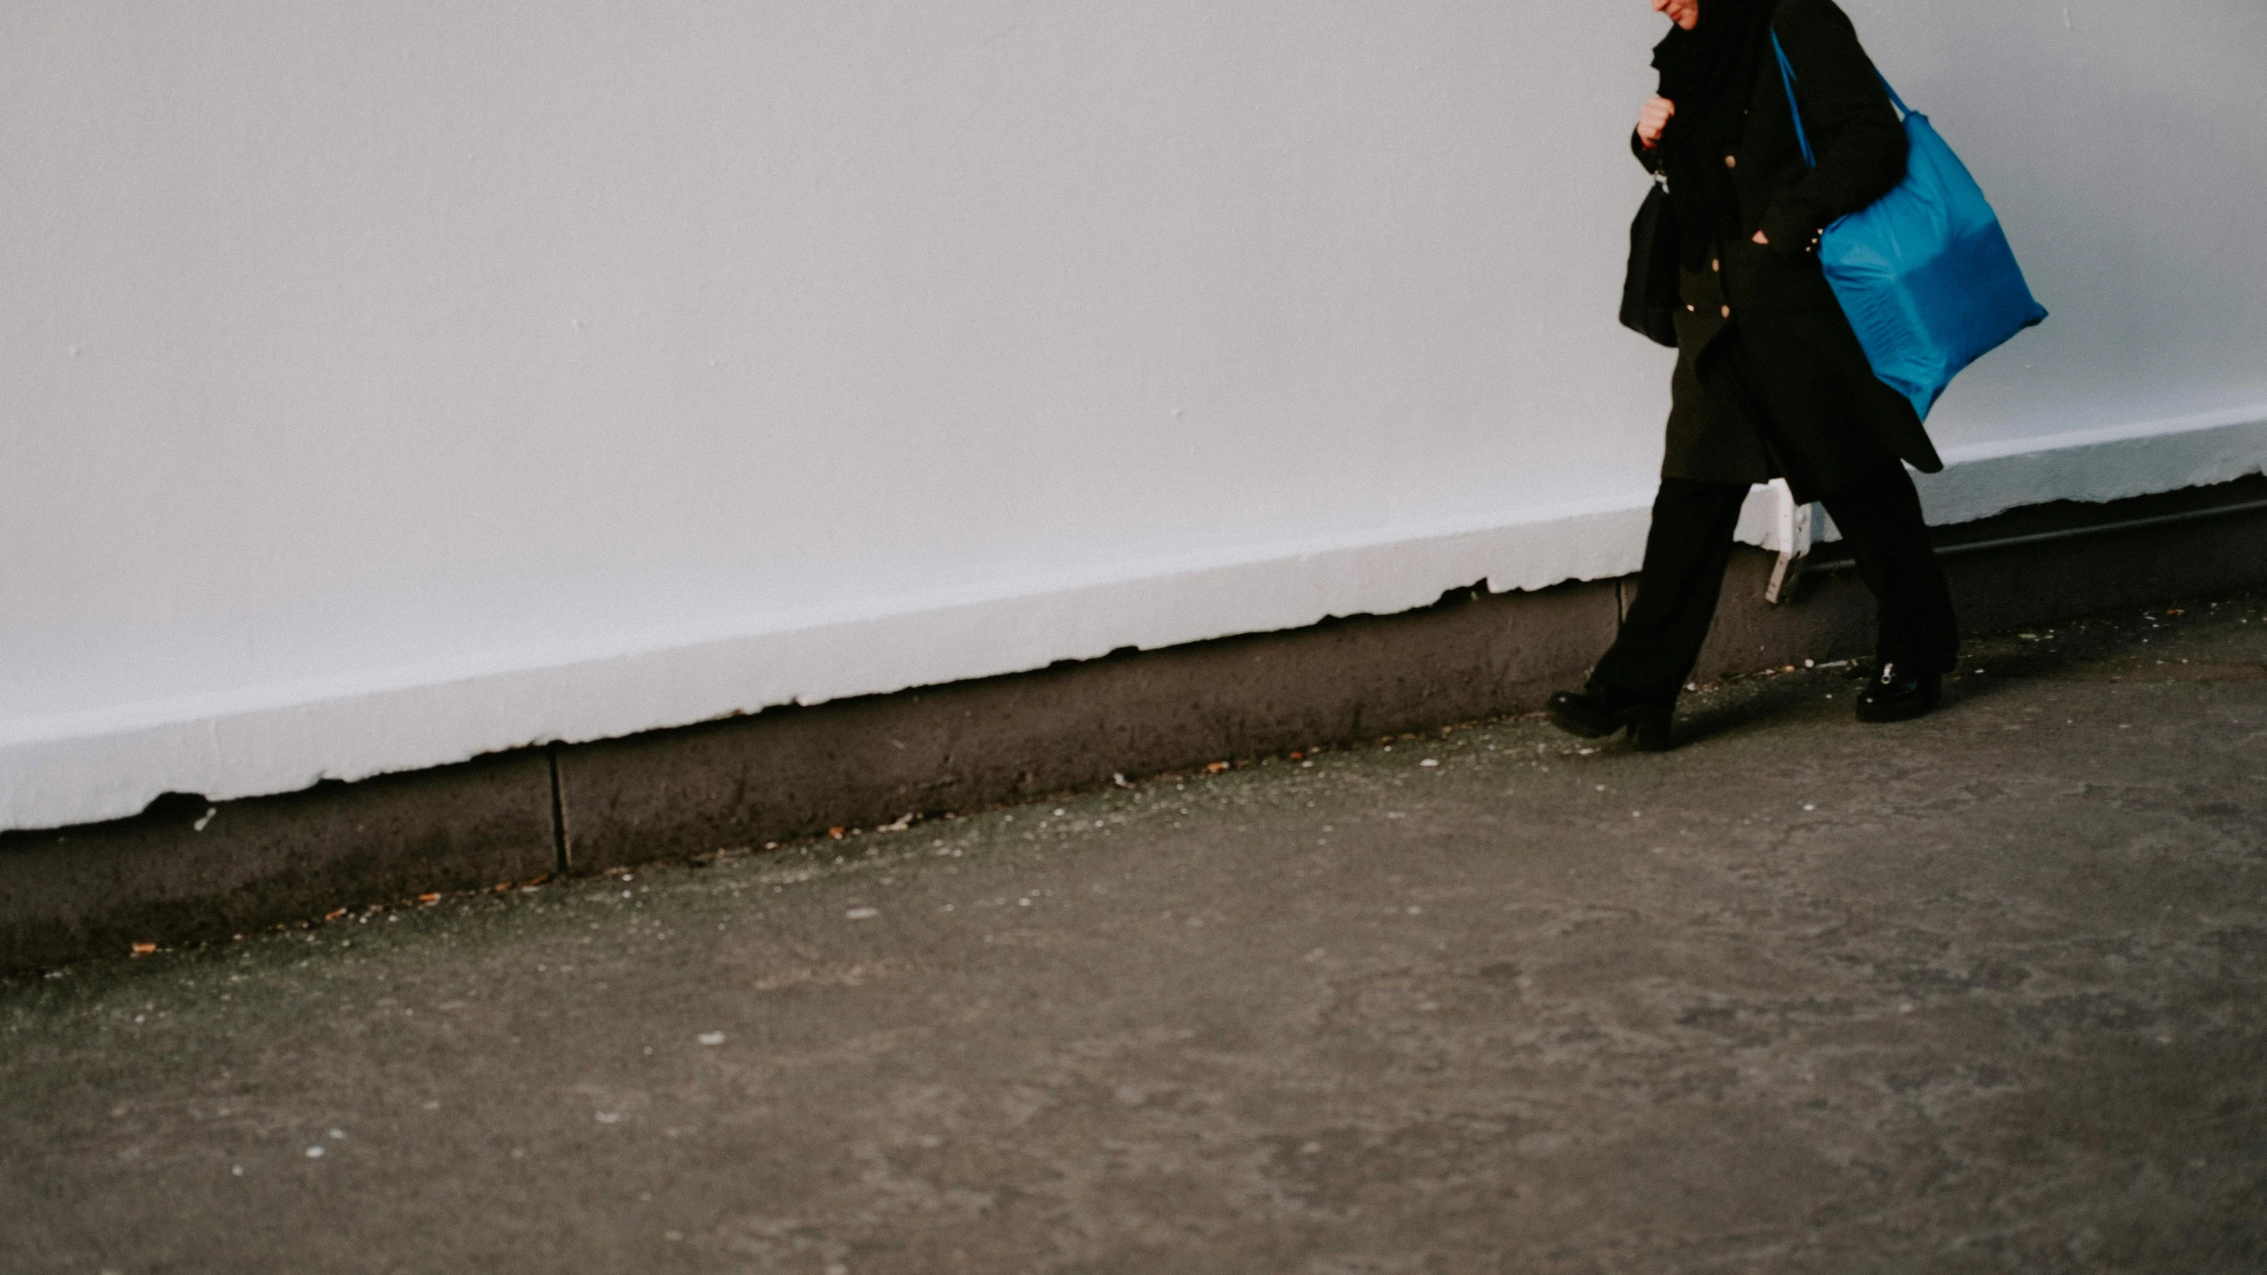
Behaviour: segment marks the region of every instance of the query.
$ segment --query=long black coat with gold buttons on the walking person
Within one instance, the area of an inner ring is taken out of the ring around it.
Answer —
[[[1818,168],[1802,163],[1780,61],[1764,50],[1741,140],[1723,156],[1741,236],[1680,272],[1662,476],[1786,478],[1798,500],[1816,500],[1897,460],[1925,473],[1945,462],[1913,405],[1873,374],[1814,247],[1827,224],[1904,181],[1904,127],[1834,0],[1780,0],[1773,29]],[[1630,145],[1657,168],[1635,134]]]

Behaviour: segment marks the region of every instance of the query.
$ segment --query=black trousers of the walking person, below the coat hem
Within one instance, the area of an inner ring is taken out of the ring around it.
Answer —
[[[1662,478],[1637,602],[1589,677],[1594,691],[1621,700],[1673,700],[1684,686],[1716,618],[1723,571],[1732,562],[1732,530],[1746,500],[1746,482]],[[1911,476],[1902,464],[1884,464],[1823,500],[1882,607],[1875,654],[1918,673],[1952,673],[1959,621]]]

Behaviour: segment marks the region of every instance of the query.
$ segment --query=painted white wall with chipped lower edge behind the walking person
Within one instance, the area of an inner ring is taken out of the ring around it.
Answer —
[[[1931,512],[2258,471],[2267,7],[1850,11],[2054,310]],[[1657,32],[5,5],[0,827],[1630,571]]]

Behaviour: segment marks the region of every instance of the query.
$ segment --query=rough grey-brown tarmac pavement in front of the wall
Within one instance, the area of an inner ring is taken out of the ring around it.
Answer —
[[[2183,611],[0,981],[0,1270],[2262,1270]]]

